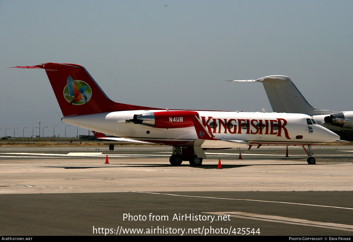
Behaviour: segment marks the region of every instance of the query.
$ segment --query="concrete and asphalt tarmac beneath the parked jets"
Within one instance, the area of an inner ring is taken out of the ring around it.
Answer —
[[[301,147],[240,151],[191,167],[165,146],[1,147],[0,234],[353,235],[353,147],[318,146],[316,165]]]

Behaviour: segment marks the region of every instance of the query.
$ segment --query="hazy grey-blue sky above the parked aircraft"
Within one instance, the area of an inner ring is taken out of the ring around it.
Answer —
[[[353,110],[352,13],[353,1],[0,1],[0,136],[38,122],[65,135],[45,71],[8,68],[46,62],[84,66],[127,104],[272,111],[261,83],[224,80],[286,75],[312,106]]]

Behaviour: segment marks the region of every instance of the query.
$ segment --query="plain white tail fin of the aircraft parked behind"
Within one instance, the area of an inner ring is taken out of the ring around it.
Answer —
[[[230,80],[233,81],[233,80]],[[330,114],[311,106],[288,76],[265,76],[257,80],[240,82],[261,82],[265,88],[272,110],[276,113],[300,113],[307,115]]]

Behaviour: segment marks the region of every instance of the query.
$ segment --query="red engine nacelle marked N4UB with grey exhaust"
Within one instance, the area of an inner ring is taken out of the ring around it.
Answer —
[[[192,117],[199,119],[195,111],[163,111],[145,114],[135,114],[127,122],[146,125],[154,128],[186,128],[194,126]]]

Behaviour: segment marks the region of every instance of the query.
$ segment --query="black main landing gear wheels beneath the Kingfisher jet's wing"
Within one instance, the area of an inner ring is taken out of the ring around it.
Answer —
[[[202,149],[199,148],[197,151],[198,153]],[[173,166],[179,166],[181,162],[189,160],[191,166],[201,166],[203,158],[198,157],[195,153],[194,148],[183,148],[183,152],[181,152],[181,147],[173,147],[173,155],[170,156],[169,162]],[[202,151],[203,152],[203,151]],[[200,154],[200,153],[199,153]],[[201,153],[201,156],[204,155]],[[204,155],[205,156],[205,155]]]

